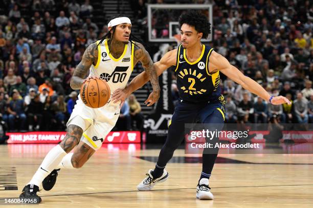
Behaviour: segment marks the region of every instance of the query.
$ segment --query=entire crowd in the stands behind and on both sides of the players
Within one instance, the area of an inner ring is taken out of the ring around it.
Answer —
[[[135,8],[133,22],[140,22],[145,31],[143,38],[147,34],[146,4],[176,3],[130,2]],[[271,94],[293,101],[291,107],[273,106],[221,75],[222,92],[227,97],[227,122],[271,119],[313,122],[313,7],[310,1],[185,0],[182,3],[213,4],[213,41],[207,44]],[[78,93],[69,85],[73,71],[86,46],[102,37],[107,27],[101,28],[98,22],[92,21],[93,7],[88,0],[79,3],[16,0],[4,1],[2,7],[5,14],[0,15],[1,119],[11,131],[64,129]],[[169,18],[153,15],[156,20]],[[168,34],[167,24],[154,21],[153,25],[156,37]],[[170,45],[165,50],[176,46]],[[173,82],[175,98],[177,87],[174,85]],[[120,117],[126,121],[122,122],[123,128],[141,129],[140,105],[133,100],[136,98],[129,98],[122,108]]]

